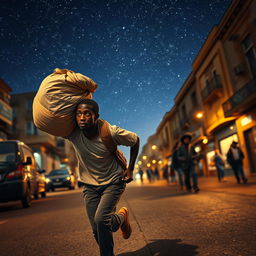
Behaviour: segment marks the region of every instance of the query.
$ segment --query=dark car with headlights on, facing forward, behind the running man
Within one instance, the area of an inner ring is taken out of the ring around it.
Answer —
[[[47,191],[54,191],[55,188],[75,189],[75,177],[68,169],[52,170],[46,175]]]

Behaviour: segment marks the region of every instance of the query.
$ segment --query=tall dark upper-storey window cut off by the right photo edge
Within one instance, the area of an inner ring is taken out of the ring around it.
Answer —
[[[253,47],[252,38],[248,35],[242,42],[244,54],[249,64],[253,78],[256,77],[256,53]]]

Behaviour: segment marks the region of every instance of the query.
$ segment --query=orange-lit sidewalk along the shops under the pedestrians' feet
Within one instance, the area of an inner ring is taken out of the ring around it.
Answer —
[[[248,177],[247,184],[237,184],[233,176],[226,176],[225,180],[226,182],[219,183],[217,177],[199,177],[198,183],[201,191],[256,196],[256,176]],[[178,184],[167,184],[166,180],[163,179],[153,183],[145,180],[144,184],[135,181],[133,186],[170,186],[179,190]]]

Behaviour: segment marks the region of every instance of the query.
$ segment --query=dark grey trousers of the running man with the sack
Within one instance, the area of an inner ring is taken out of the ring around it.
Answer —
[[[125,190],[121,181],[103,186],[85,185],[84,202],[101,256],[114,255],[112,232],[116,232],[124,221],[122,214],[115,214],[117,203]]]

